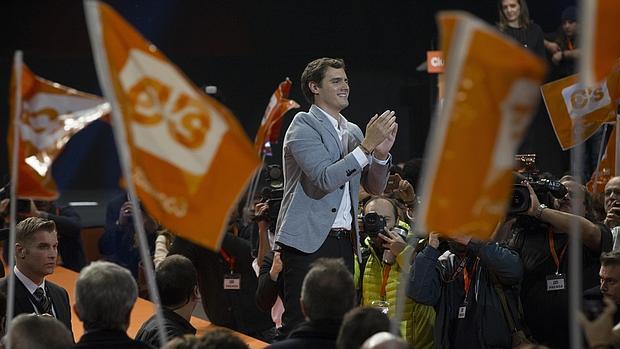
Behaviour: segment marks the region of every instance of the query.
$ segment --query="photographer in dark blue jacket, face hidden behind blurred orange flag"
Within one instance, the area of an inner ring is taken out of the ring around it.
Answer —
[[[498,289],[515,309],[512,288],[521,282],[519,255],[496,243],[454,238],[439,250],[439,234],[415,257],[407,295],[435,307],[435,348],[512,348],[512,331]],[[510,296],[510,297],[508,297]]]

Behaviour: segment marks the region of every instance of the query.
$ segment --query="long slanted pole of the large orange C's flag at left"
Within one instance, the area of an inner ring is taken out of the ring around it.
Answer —
[[[105,98],[109,101],[112,108],[112,129],[114,131],[114,140],[118,150],[122,173],[125,178],[125,183],[127,184],[129,200],[131,201],[131,205],[134,207],[134,229],[138,235],[138,247],[140,250],[142,264],[144,266],[149,297],[151,302],[155,304],[155,319],[158,326],[159,341],[161,345],[164,345],[168,341],[164,327],[164,316],[161,301],[159,299],[159,291],[157,290],[157,285],[155,282],[153,259],[151,258],[148,250],[148,241],[144,231],[144,218],[142,210],[140,209],[140,203],[138,201],[136,187],[131,172],[131,156],[127,147],[127,135],[123,115],[119,107],[118,100],[116,99],[116,94],[114,93],[114,87],[109,82],[110,71],[107,56],[103,50],[103,43],[101,42],[103,32],[101,28],[98,2],[93,0],[84,0],[84,12],[86,15],[86,23],[88,26],[91,47],[93,49],[93,57],[95,59],[95,68],[99,77],[99,84],[101,85]]]

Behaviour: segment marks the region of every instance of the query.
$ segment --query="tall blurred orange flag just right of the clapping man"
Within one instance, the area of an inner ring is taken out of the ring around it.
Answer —
[[[471,15],[440,13],[438,23],[450,23],[446,18],[456,23],[450,47],[441,28],[446,98],[429,138],[419,224],[486,239],[506,212],[514,154],[536,109],[545,64]]]

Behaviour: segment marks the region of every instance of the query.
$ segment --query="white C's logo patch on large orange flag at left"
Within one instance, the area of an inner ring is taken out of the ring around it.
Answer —
[[[145,72],[157,72],[157,76]],[[120,72],[135,145],[193,175],[209,170],[226,121],[167,62],[132,49]]]

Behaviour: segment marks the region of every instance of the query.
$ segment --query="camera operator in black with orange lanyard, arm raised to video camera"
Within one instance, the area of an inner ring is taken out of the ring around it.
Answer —
[[[552,348],[568,348],[568,234],[578,225],[583,241],[583,289],[598,283],[601,252],[611,249],[609,229],[591,220],[592,201],[585,187],[570,177],[560,183],[566,195],[549,199],[549,193],[534,192],[528,183],[531,204],[512,226],[510,245],[521,255],[525,274],[521,300],[525,321],[534,338]],[[583,201],[571,200],[581,192]],[[540,197],[539,197],[540,196]],[[541,204],[541,200],[546,202]],[[572,205],[579,205],[572,210]],[[585,217],[571,212],[584,212]]]

